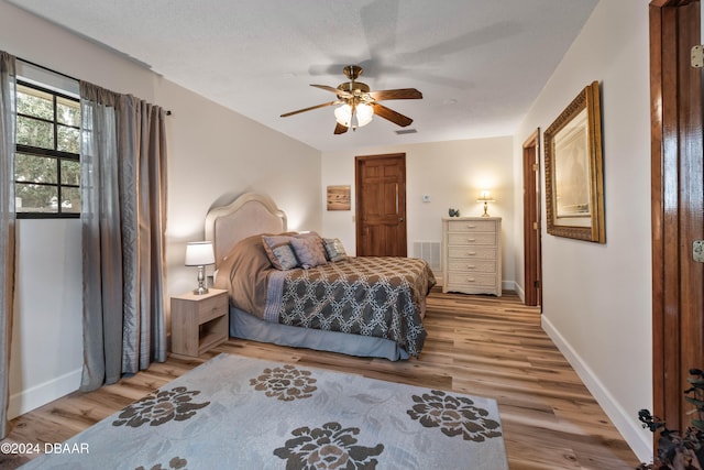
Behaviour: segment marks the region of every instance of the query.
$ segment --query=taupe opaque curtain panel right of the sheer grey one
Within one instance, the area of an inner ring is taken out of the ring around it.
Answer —
[[[129,273],[123,286],[122,372],[135,373],[151,360],[166,360],[166,131],[162,108],[124,95],[120,103],[120,170],[127,189],[121,193],[122,245]]]

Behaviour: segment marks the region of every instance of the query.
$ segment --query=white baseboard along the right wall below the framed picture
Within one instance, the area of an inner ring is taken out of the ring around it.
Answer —
[[[594,374],[588,365],[580,358],[572,347],[564,340],[554,326],[542,316],[542,329],[552,339],[560,352],[565,357],[572,369],[578,373],[584,385],[594,395],[596,402],[602,406],[606,415],[616,426],[616,429],[624,436],[624,439],[631,448],[636,457],[642,462],[652,461],[651,435],[646,434],[638,422],[637,416],[627,413],[612,396],[602,381]]]

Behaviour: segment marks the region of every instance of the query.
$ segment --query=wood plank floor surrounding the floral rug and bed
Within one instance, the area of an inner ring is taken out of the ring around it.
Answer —
[[[230,339],[199,359],[169,358],[92,393],[74,393],[12,420],[7,440],[59,442],[220,353],[359,373],[498,402],[512,470],[634,469],[638,461],[566,360],[540,314],[513,293],[433,291],[420,359],[389,362]],[[634,416],[636,419],[636,416]],[[7,456],[1,456],[2,457]],[[0,469],[12,468],[6,461]]]

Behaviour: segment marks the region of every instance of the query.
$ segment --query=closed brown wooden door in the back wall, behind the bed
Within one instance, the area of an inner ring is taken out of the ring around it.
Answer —
[[[356,255],[406,256],[406,154],[355,157]]]

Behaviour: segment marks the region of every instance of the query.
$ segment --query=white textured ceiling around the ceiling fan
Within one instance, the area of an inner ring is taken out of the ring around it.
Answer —
[[[6,0],[321,151],[509,135],[597,0]],[[342,67],[414,119],[333,135]],[[167,107],[168,103],[158,103]]]

